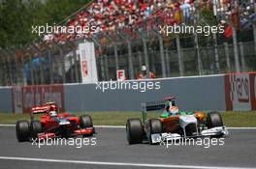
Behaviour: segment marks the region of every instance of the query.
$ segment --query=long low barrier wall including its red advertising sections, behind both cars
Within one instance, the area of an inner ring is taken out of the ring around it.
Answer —
[[[0,112],[28,112],[32,105],[47,101],[55,101],[60,110],[70,112],[140,111],[142,102],[168,96],[176,96],[176,103],[182,110],[256,110],[256,72],[125,82],[133,87],[115,87],[115,90],[103,92],[103,86],[111,88],[113,81],[98,85],[4,87],[0,88]],[[136,82],[137,88],[134,87]],[[144,84],[149,83],[153,85],[144,90]]]

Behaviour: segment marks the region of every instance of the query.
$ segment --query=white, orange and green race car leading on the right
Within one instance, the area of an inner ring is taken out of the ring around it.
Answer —
[[[184,112],[176,106],[175,97],[162,101],[146,102],[143,107],[143,123],[139,118],[128,119],[126,135],[129,144],[161,143],[167,140],[228,135],[218,112]],[[146,111],[163,109],[160,117],[146,120]]]

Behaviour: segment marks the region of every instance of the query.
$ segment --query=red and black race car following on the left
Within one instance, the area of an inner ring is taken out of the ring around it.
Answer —
[[[35,120],[35,114],[44,115],[38,121]],[[18,142],[54,137],[68,138],[76,135],[92,136],[94,133],[90,116],[82,115],[76,117],[69,113],[60,114],[54,102],[32,107],[30,118],[30,123],[23,120],[16,122],[16,138]]]

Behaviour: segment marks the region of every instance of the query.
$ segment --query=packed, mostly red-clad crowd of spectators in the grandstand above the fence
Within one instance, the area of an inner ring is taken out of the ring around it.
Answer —
[[[225,11],[226,15],[232,15],[237,13],[233,12],[232,3],[231,0],[96,0],[66,23],[67,29],[80,27],[86,30],[89,28],[89,31],[52,34],[47,36],[46,41],[64,42],[97,37],[102,32],[114,32],[117,29],[134,29],[136,25],[155,17],[169,25],[191,23],[193,13],[203,7],[212,10],[214,14]],[[227,17],[222,17],[221,23]]]

